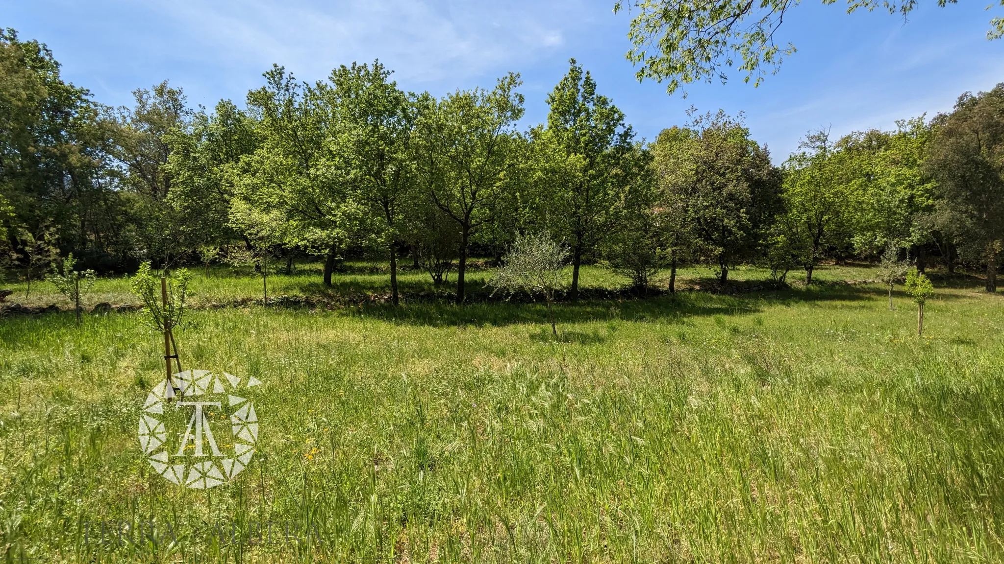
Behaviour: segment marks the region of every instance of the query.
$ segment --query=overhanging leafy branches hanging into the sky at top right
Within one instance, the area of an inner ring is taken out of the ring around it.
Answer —
[[[835,4],[837,0],[822,0]],[[777,72],[785,57],[795,52],[780,45],[775,34],[784,16],[800,0],[616,0],[613,12],[635,11],[628,38],[634,48],[628,59],[641,65],[639,80],[667,81],[668,93],[682,84],[714,78],[728,79],[727,67],[738,64],[744,81],[759,85],[766,73]],[[939,6],[956,0],[938,0]],[[916,0],[847,0],[847,13],[857,9],[888,9],[906,17]],[[990,22],[989,39],[1004,36],[1004,18]]]

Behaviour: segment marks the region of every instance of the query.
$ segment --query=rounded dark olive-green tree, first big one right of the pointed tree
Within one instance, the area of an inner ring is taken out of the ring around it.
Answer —
[[[656,140],[660,190],[683,207],[694,255],[716,265],[724,283],[732,265],[755,254],[781,208],[781,175],[741,120],[722,110],[690,113],[690,126],[664,129]]]

